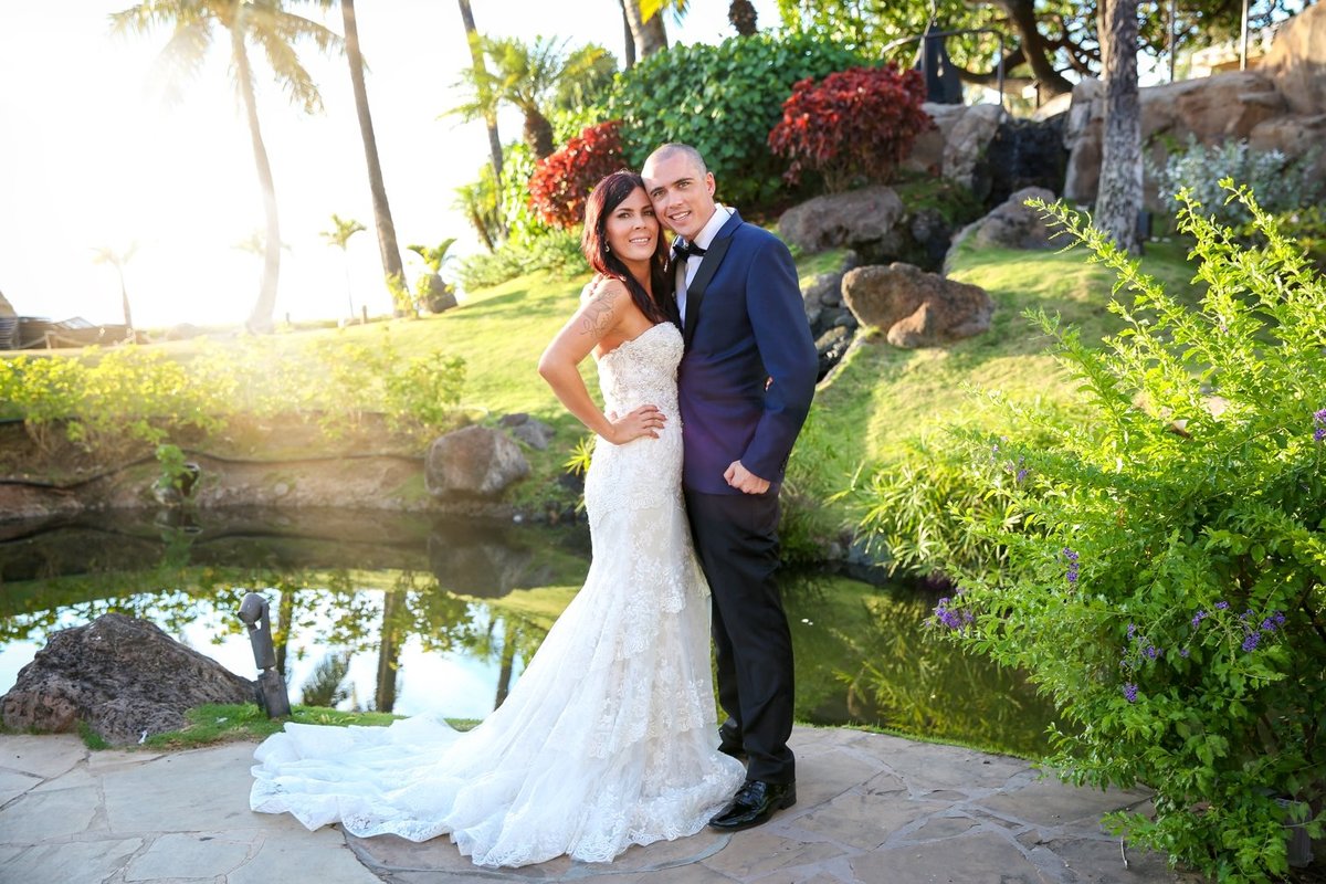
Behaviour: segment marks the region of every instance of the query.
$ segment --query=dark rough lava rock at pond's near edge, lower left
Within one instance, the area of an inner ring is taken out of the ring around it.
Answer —
[[[110,744],[184,726],[207,702],[253,702],[255,688],[221,664],[123,614],[53,632],[0,698],[16,730],[68,732],[80,721]]]

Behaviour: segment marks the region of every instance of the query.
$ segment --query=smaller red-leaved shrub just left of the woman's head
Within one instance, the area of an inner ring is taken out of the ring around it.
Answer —
[[[626,167],[619,122],[586,126],[534,166],[529,204],[553,227],[569,229],[585,220],[585,199],[606,175]]]

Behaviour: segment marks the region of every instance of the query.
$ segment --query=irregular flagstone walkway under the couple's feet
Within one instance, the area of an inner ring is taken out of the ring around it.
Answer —
[[[797,728],[792,746],[800,801],[765,826],[633,847],[607,865],[487,869],[447,839],[358,839],[251,812],[252,744],[89,751],[72,736],[3,736],[0,883],[1199,880],[1102,832],[1105,812],[1146,804],[1140,791],[1073,789],[1016,758],[849,729]]]

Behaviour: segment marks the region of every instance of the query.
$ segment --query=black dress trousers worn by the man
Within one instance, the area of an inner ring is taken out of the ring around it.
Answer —
[[[686,512],[713,599],[724,740],[741,744],[748,779],[794,782],[792,635],[776,580],[778,488],[765,494],[687,489]]]

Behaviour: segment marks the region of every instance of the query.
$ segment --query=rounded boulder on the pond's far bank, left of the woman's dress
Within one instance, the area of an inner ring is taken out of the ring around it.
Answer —
[[[520,445],[479,425],[439,436],[424,461],[424,486],[435,497],[495,498],[525,476],[529,461]]]

